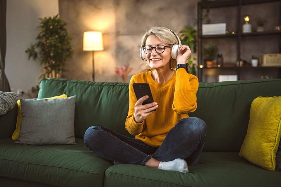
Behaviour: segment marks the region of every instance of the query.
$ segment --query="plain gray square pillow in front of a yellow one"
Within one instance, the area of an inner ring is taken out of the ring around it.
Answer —
[[[20,99],[23,119],[18,141],[23,145],[76,144],[74,108],[76,96],[56,99]]]

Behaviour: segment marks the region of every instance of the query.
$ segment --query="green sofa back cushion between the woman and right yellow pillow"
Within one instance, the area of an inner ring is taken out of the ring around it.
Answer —
[[[189,114],[207,125],[203,151],[239,152],[246,136],[252,101],[280,96],[281,79],[199,83],[197,109]]]

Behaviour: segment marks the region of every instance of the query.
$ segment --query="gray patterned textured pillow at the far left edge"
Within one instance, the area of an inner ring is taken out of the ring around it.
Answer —
[[[0,116],[12,110],[18,101],[18,94],[0,91]]]

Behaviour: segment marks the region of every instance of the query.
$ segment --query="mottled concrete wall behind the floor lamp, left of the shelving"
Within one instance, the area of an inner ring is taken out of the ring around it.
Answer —
[[[145,69],[139,56],[140,39],[150,27],[163,26],[176,33],[192,25],[197,17],[197,0],[59,0],[61,18],[73,34],[75,54],[68,62],[70,79],[92,80],[92,52],[83,51],[83,32],[101,31],[104,51],[95,52],[95,81],[121,82],[115,67],[129,64],[132,75]],[[196,57],[196,54],[193,54]]]

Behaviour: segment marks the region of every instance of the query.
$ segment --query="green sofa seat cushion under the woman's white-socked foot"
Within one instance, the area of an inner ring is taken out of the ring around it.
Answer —
[[[120,164],[105,172],[104,186],[279,186],[281,171],[267,171],[239,157],[239,152],[202,152],[189,173]]]

